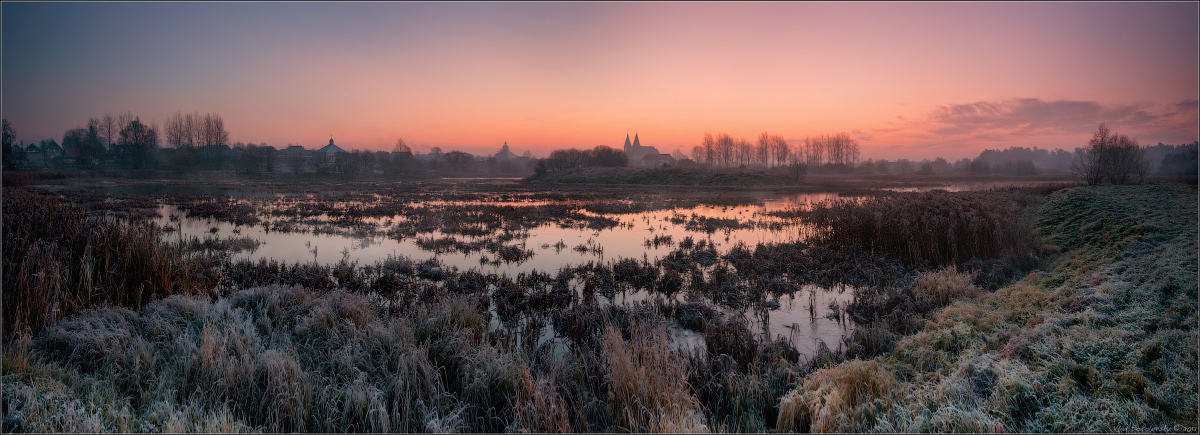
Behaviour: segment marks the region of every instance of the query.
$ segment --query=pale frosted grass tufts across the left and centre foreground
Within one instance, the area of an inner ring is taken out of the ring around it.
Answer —
[[[707,430],[664,324],[625,338],[602,317],[594,348],[527,350],[493,340],[486,300],[395,315],[272,286],[90,309],[6,348],[5,429]]]

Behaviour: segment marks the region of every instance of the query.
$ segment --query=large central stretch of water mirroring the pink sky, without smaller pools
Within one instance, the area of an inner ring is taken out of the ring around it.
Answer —
[[[613,228],[599,231],[563,228],[557,224],[544,225],[530,230],[529,238],[523,242],[524,249],[534,251],[533,258],[520,264],[502,263],[500,266],[491,266],[490,263],[484,266],[480,264],[480,256],[494,260],[496,256],[490,252],[448,252],[434,255],[433,252],[418,248],[415,243],[416,238],[408,238],[397,242],[396,239],[386,237],[354,238],[338,234],[313,234],[300,232],[283,233],[277,231],[266,233],[262,226],[239,227],[228,222],[204,219],[182,219],[178,225],[182,226],[181,234],[188,238],[192,236],[202,239],[209,236],[216,236],[220,238],[234,236],[250,237],[263,243],[253,252],[239,252],[234,255],[235,260],[248,258],[258,261],[259,258],[274,258],[286,263],[307,263],[316,261],[320,264],[332,264],[341,261],[343,252],[346,252],[350,261],[358,261],[360,264],[370,264],[383,260],[389,255],[394,255],[407,256],[415,261],[438,258],[446,266],[457,267],[463,270],[475,268],[485,273],[516,275],[517,273],[532,270],[553,273],[564,266],[577,266],[593,261],[612,262],[620,258],[643,258],[643,256],[649,261],[654,261],[670,254],[674,250],[674,246],[686,237],[691,237],[696,242],[708,240],[720,254],[727,252],[730,248],[739,242],[745,243],[751,249],[758,243],[794,242],[800,237],[800,228],[797,226],[785,226],[782,230],[778,231],[755,227],[732,231],[718,230],[713,233],[704,233],[688,231],[683,227],[683,225],[672,224],[670,219],[676,214],[682,214],[689,218],[695,214],[706,218],[737,218],[739,221],[779,221],[775,218],[756,216],[756,214],[802,207],[808,203],[836,197],[836,193],[800,193],[774,197],[764,201],[763,205],[700,205],[686,209],[610,215],[618,219],[622,224],[630,225],[620,225]],[[176,225],[175,222],[168,221],[169,215],[184,215],[173,205],[163,205],[160,214],[162,215],[160,224],[168,226]],[[376,222],[382,221],[386,221],[386,219],[376,220]],[[210,233],[210,230],[214,227],[217,228],[215,234]],[[239,234],[233,233],[233,230],[235,228],[240,232]],[[419,237],[440,238],[444,236],[451,236],[460,240],[472,240],[469,237],[442,234],[440,232],[420,234]],[[655,236],[671,236],[672,245],[647,248],[644,244],[646,240],[653,239]],[[170,237],[178,238],[180,234],[172,234]],[[556,251],[553,246],[559,242],[562,242],[565,248]],[[508,244],[511,245],[514,243],[517,245],[521,244],[520,240],[509,242]],[[550,248],[542,248],[544,244]],[[586,245],[588,248],[595,246],[602,251],[596,252],[594,250],[589,250],[587,252],[580,252],[575,249],[578,245]]]

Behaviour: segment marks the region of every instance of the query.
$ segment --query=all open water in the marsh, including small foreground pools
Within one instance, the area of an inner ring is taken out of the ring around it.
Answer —
[[[1000,184],[1000,185],[1009,185]],[[956,184],[941,187],[913,187],[895,189],[901,191],[926,191],[931,189],[946,189],[952,191],[991,189],[996,183]],[[570,266],[581,266],[588,262],[613,263],[622,258],[647,260],[654,262],[671,251],[676,250],[682,240],[691,238],[694,242],[704,240],[713,246],[718,255],[728,254],[730,249],[738,244],[745,244],[752,249],[758,243],[787,243],[803,240],[808,226],[796,219],[780,219],[769,216],[768,213],[803,208],[808,204],[836,199],[839,196],[833,192],[820,193],[744,193],[757,196],[756,204],[749,205],[695,205],[685,208],[659,209],[650,211],[629,214],[598,214],[583,211],[588,216],[602,216],[613,219],[617,226],[605,230],[588,230],[572,222],[551,221],[527,231],[520,232],[515,238],[505,242],[505,245],[516,245],[522,250],[533,251],[528,260],[518,262],[503,262],[492,252],[482,250],[470,252],[434,252],[421,249],[418,244],[420,238],[444,238],[454,237],[461,242],[485,240],[494,237],[497,232],[481,237],[466,237],[461,234],[445,234],[440,231],[419,233],[418,237],[389,237],[388,228],[407,219],[404,215],[390,218],[365,219],[356,224],[354,228],[336,227],[334,220],[328,215],[301,220],[296,225],[298,232],[269,231],[268,227],[276,227],[282,221],[295,221],[294,216],[271,218],[269,213],[259,213],[263,224],[258,225],[234,225],[211,219],[186,218],[186,213],[175,205],[160,205],[158,224],[175,227],[174,233],[164,236],[167,239],[198,237],[244,237],[253,238],[262,244],[248,251],[233,254],[234,260],[258,261],[259,258],[277,260],[293,263],[317,263],[334,264],[342,260],[371,264],[378,260],[390,256],[407,256],[415,261],[436,258],[448,267],[460,270],[476,269],[481,273],[494,273],[498,275],[516,276],[520,273],[540,270],[553,275],[558,269]],[[378,197],[378,196],[377,196]],[[241,199],[259,209],[278,207],[287,201],[296,199],[296,196],[268,196],[254,199]],[[311,197],[301,197],[311,198]],[[482,202],[482,201],[430,201],[422,202],[421,207],[437,205],[480,205],[480,204],[504,204],[512,207],[535,207],[553,202],[547,201],[509,201],[509,202]],[[559,202],[569,203],[569,201]],[[338,205],[337,203],[330,203]],[[344,204],[342,204],[344,205]],[[737,222],[734,228],[716,228],[704,231],[697,227],[689,227],[689,222],[696,224],[706,219],[725,220],[725,222]],[[654,239],[664,242],[670,237],[668,243],[654,244]],[[646,291],[618,293],[612,303],[625,304],[637,300],[646,300],[654,297]],[[680,298],[682,296],[677,296]],[[785,294],[776,299],[776,309],[767,310],[766,318],[761,311],[754,308],[728,309],[718,306],[726,315],[744,316],[751,326],[751,330],[763,339],[788,339],[804,356],[814,356],[821,342],[829,347],[836,347],[841,339],[853,328],[853,322],[842,314],[841,318],[832,316],[835,311],[845,311],[845,306],[853,298],[853,288],[820,288],[816,286],[804,286],[793,294]],[[833,304],[834,308],[830,308]],[[499,327],[499,324],[493,324]],[[540,332],[539,341],[556,340],[550,326]],[[703,345],[701,334],[685,330],[678,327],[671,328],[673,341],[678,347],[694,347]]]

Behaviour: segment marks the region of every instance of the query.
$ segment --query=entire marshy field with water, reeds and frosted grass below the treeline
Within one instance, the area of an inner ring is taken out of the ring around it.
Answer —
[[[6,174],[4,430],[1195,431],[1194,186],[868,187]]]

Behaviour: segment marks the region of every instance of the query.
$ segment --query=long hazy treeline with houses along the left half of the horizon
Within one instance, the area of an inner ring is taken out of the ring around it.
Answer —
[[[281,151],[266,143],[230,143],[226,123],[217,113],[175,112],[162,127],[145,124],[132,113],[106,113],[88,119],[86,127],[67,130],[61,144],[42,139],[13,153],[16,130],[4,120],[4,163],[8,169],[20,165],[47,168],[130,171],[167,169],[236,171],[246,175],[274,172],[300,174],[368,174],[418,177],[424,172],[445,175],[521,177],[533,172],[532,159],[496,159],[464,151],[433,153],[415,156],[408,144],[397,139],[391,153],[349,150],[319,154],[316,150]],[[292,144],[288,144],[292,147]]]

